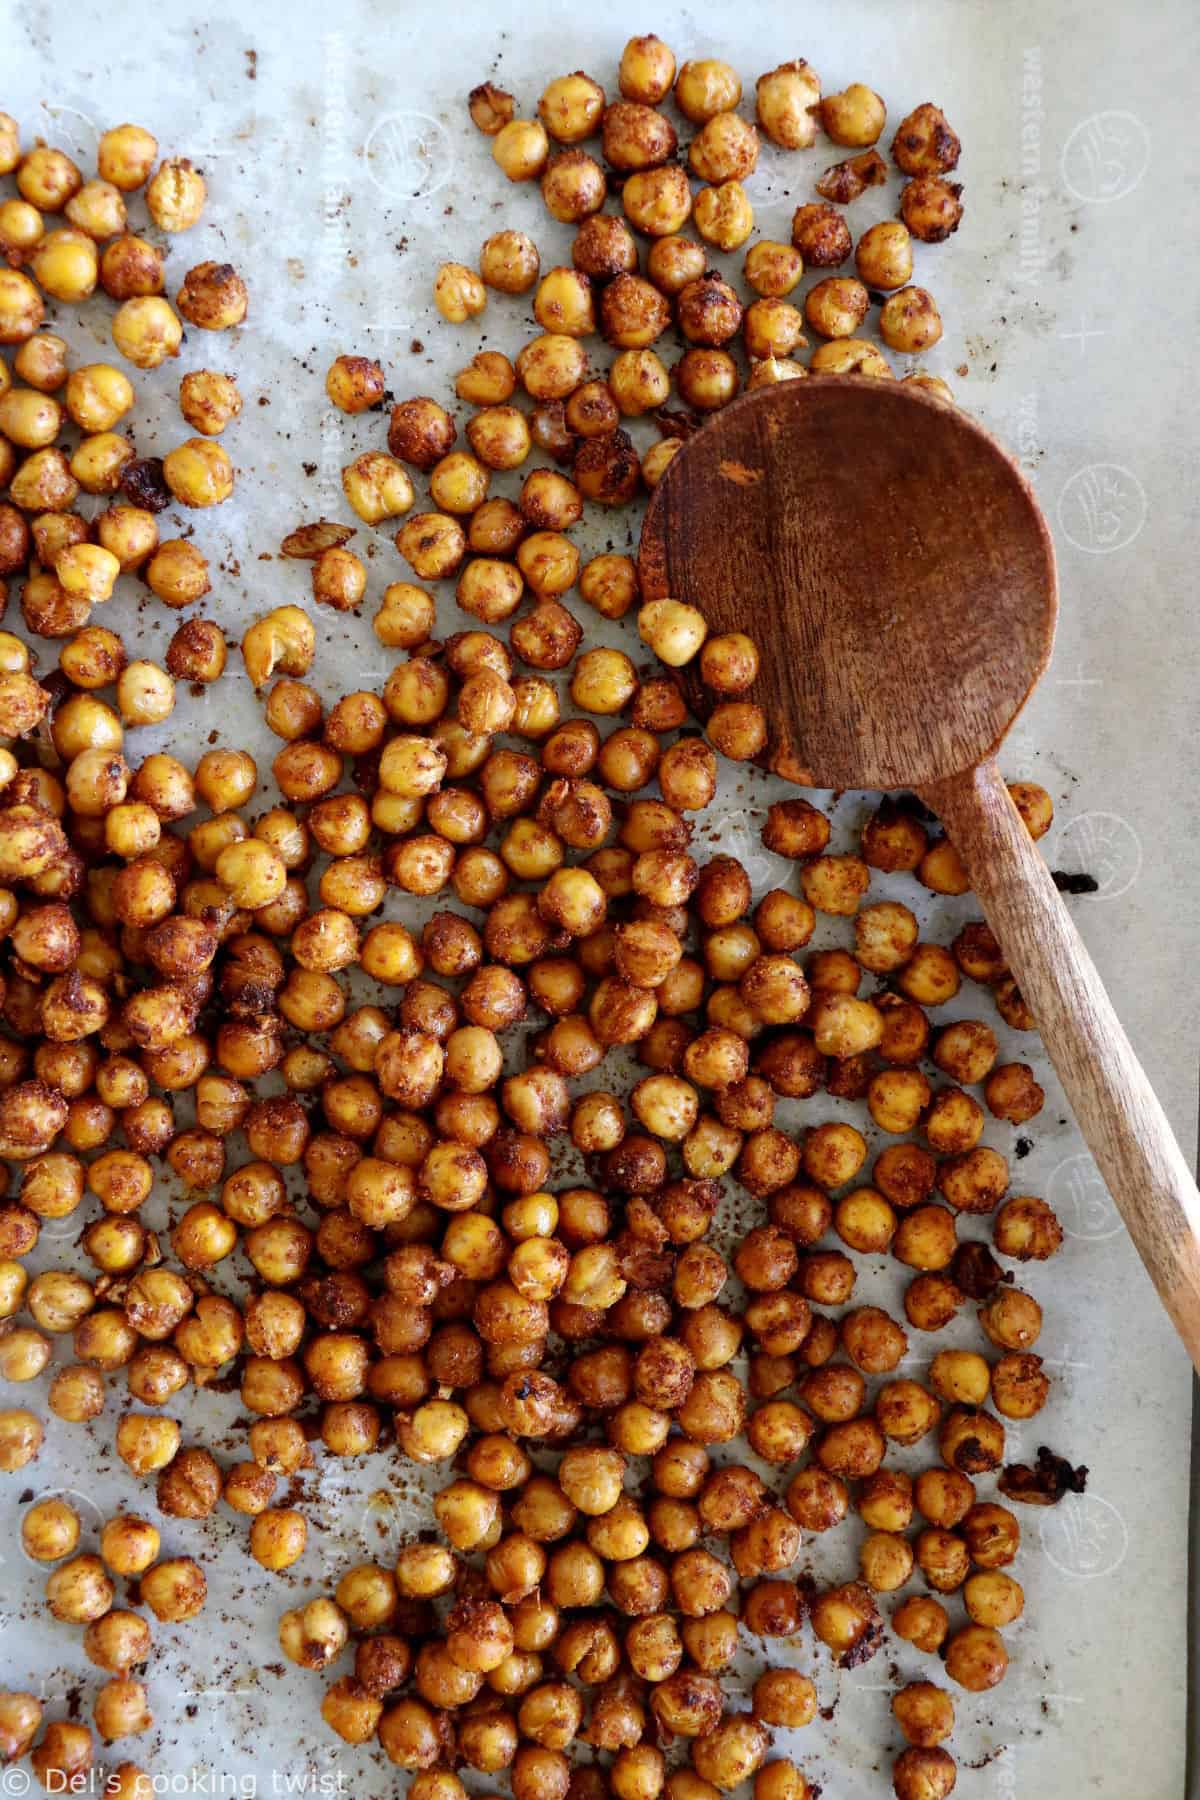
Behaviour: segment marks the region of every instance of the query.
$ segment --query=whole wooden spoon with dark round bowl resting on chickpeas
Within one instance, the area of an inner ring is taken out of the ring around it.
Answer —
[[[939,815],[1200,1368],[1200,1195],[995,765],[1058,610],[1016,464],[923,389],[763,387],[669,464],[639,571],[646,599],[691,601],[712,632],[757,641],[747,698],[766,715],[766,767],[804,787],[916,788]]]

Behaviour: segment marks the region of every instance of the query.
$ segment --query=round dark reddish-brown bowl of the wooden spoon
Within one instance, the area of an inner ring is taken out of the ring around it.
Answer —
[[[759,639],[765,761],[804,787],[972,769],[1054,641],[1054,549],[1022,472],[957,407],[865,376],[718,412],[649,500],[639,572],[646,599]]]

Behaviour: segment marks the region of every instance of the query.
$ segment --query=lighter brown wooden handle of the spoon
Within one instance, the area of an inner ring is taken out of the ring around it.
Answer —
[[[984,916],[1159,1298],[1200,1370],[1200,1193],[1045,860],[993,761],[921,790]]]

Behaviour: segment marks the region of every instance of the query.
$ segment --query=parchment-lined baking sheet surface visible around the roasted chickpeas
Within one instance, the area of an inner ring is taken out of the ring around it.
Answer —
[[[1051,788],[1058,819],[1047,855],[1094,878],[1096,891],[1072,911],[1180,1139],[1195,1143],[1200,632],[1189,594],[1196,428],[1187,364],[1196,252],[1180,153],[1193,126],[1191,7],[851,0],[793,22],[754,0],[720,14],[662,5],[653,18],[626,0],[596,11],[462,0],[446,14],[344,0],[237,18],[178,0],[121,13],[81,0],[9,5],[0,25],[0,104],[27,135],[86,158],[95,124],[130,117],[205,169],[210,209],[173,243],[171,286],[205,256],[232,259],[250,283],[248,326],[216,344],[189,333],[180,365],[228,367],[246,396],[225,439],[237,495],[198,520],[214,567],[209,610],[230,637],[237,621],[304,596],[306,571],[272,560],[281,535],[318,511],[344,517],[342,464],[381,443],[378,418],[329,414],[322,376],[331,356],[378,355],[398,396],[443,394],[479,333],[450,329],[432,311],[435,263],[471,261],[480,238],[509,223],[536,236],[543,266],[560,259],[556,243],[567,248],[567,229],[547,221],[536,193],[495,176],[464,115],[473,83],[495,74],[525,108],[567,68],[585,67],[612,88],[624,38],[655,29],[680,59],[727,56],[747,90],[763,68],[802,54],[828,90],[856,79],[876,86],[891,121],[939,101],[964,139],[968,211],[945,250],[918,247],[916,279],[936,292],[946,322],[925,365],[1018,450],[1056,533],[1063,587],[1054,664],[1004,767]],[[759,225],[786,238],[793,205],[835,155],[828,146],[797,158],[768,151],[750,184]],[[885,211],[889,200],[869,194],[856,225]],[[482,326],[493,346],[513,351],[527,331],[525,304],[493,297]],[[77,320],[59,328],[79,356],[103,355],[103,326],[94,337]],[[162,452],[182,436],[175,376],[160,371],[135,385],[139,448]],[[608,533],[621,547],[626,515],[588,529],[588,553]],[[380,533],[371,592],[401,572]],[[178,623],[153,601],[139,607],[135,590],[110,616],[137,628],[149,655]],[[448,601],[446,625],[452,616]],[[383,677],[389,657],[365,621],[322,617],[320,626],[315,679],[326,695]],[[210,733],[261,751],[268,769],[243,682],[185,698],[167,736],[194,754]],[[139,749],[151,743],[144,734]],[[790,873],[757,844],[756,814],[772,792],[736,774],[714,826],[705,821],[698,833],[703,846],[714,830],[720,848],[768,884]],[[835,848],[851,848],[862,810],[856,796],[838,805]],[[389,913],[401,911],[389,902]],[[955,902],[948,916],[970,914],[970,902]],[[964,995],[954,1012],[979,1010],[977,999]],[[1029,1055],[1011,1033],[1002,1048]],[[1049,1082],[1047,1091],[1015,1175],[1018,1192],[1051,1199],[1069,1233],[1052,1264],[1022,1273],[1047,1307],[1038,1348],[1056,1388],[1011,1440],[1024,1451],[1049,1442],[1092,1476],[1085,1498],[1022,1516],[1016,1573],[1027,1613],[1009,1633],[1004,1687],[955,1694],[959,1793],[1166,1800],[1182,1791],[1186,1757],[1189,1372],[1061,1096]],[[822,1103],[819,1116],[838,1111]],[[1000,1148],[1011,1138],[988,1132]],[[176,1199],[164,1184],[148,1222],[166,1222]],[[43,1233],[40,1262],[74,1262],[77,1220],[52,1229],[61,1237]],[[862,1298],[894,1303],[898,1291],[892,1271],[864,1269]],[[970,1341],[970,1328],[961,1325],[959,1337]],[[923,1354],[921,1343],[912,1348]],[[38,1463],[0,1489],[0,1679],[41,1687],[49,1717],[86,1714],[95,1672],[79,1634],[41,1611],[41,1571],[23,1561],[16,1523],[29,1492],[58,1487],[79,1496],[90,1521],[133,1501],[126,1471],[113,1467],[115,1413],[110,1400],[92,1433],[50,1420]],[[180,1417],[185,1440],[236,1458],[236,1395],[198,1397]],[[327,1591],[344,1566],[394,1548],[419,1517],[417,1487],[389,1456],[326,1462],[306,1505],[309,1548],[284,1577],[248,1561],[245,1525],[225,1508],[203,1525],[167,1521],[167,1548],[205,1562],[209,1611],[200,1625],[155,1629],[155,1732],[117,1746],[113,1760],[135,1757],[182,1793],[390,1793],[396,1771],[378,1751],[349,1750],[326,1732],[320,1679],[282,1663],[275,1627],[286,1606]],[[153,1514],[153,1490],[133,1503]],[[835,1539],[813,1546],[817,1575],[849,1571],[853,1532]],[[835,1678],[808,1638],[772,1654],[813,1669],[831,1708],[788,1746],[810,1777],[847,1800],[885,1791],[887,1751],[898,1748],[889,1688],[896,1670],[912,1678],[923,1660],[889,1642],[865,1669]],[[20,1791],[16,1777],[5,1771],[0,1787]]]

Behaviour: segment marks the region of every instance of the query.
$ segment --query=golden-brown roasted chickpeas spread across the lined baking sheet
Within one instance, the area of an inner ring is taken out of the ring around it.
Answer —
[[[203,554],[158,544],[155,515],[230,491],[212,439],[239,410],[236,383],[185,376],[200,436],[148,464],[113,430],[128,376],[68,369],[41,329],[43,295],[86,299],[99,281],[121,302],[117,351],[153,369],[178,347],[178,315],[237,324],[245,286],[201,263],[178,313],[162,297],[162,256],[126,232],[124,196],[146,184],[155,225],[185,230],[203,178],[185,160],[155,171],[148,131],[104,133],[85,182],[61,151],[23,151],[0,115],[0,171],[20,194],[0,203],[0,340],[16,346],[16,382],[0,364],[0,567],[31,637],[58,644],[58,668],[36,675],[0,632],[0,1377],[40,1377],[68,1341],[54,1417],[95,1420],[112,1377],[117,1454],[153,1478],[158,1514],[173,1530],[219,1505],[243,1514],[264,1570],[306,1548],[304,1512],[279,1489],[295,1498],[315,1458],[394,1442],[444,1476],[435,1539],[347,1570],[279,1629],[304,1669],[353,1654],[322,1714],[347,1742],[378,1739],[414,1800],[464,1800],[459,1768],[507,1780],[515,1800],[718,1800],[748,1778],[756,1800],[806,1800],[804,1773],[770,1760],[772,1726],[810,1724],[817,1690],[775,1663],[750,1708],[730,1708],[745,1636],[811,1629],[849,1669],[891,1625],[975,1694],[1002,1679],[1002,1631],[1024,1606],[1007,1573],[1016,1516],[979,1483],[1004,1463],[1004,1422],[1034,1417],[1049,1382],[1040,1307],[999,1258],[1047,1258],[1061,1229],[1042,1199],[1009,1193],[982,1132],[1033,1120],[1043,1094],[1027,1064],[1000,1060],[984,1017],[937,1012],[970,981],[1009,1030],[1034,1022],[984,923],[943,947],[901,900],[869,898],[873,871],[968,893],[954,846],[905,797],[883,799],[853,850],[831,848],[810,799],[770,805],[763,844],[795,878],[768,893],[734,857],[694,853],[716,752],[763,743],[757,648],[709,635],[685,596],[639,607],[635,563],[581,563],[569,535],[588,502],[653,486],[682,441],[639,457],[622,421],[671,389],[691,414],[732,398],[739,333],[748,385],[891,374],[856,335],[876,290],[889,347],[936,342],[937,308],[909,286],[912,238],[959,221],[959,140],[932,104],[901,121],[901,218],[855,248],[838,205],[887,175],[885,106],[864,85],[822,97],[804,61],[786,63],[759,79],[750,122],[727,63],[676,68],[649,36],[626,45],[619,95],[578,72],[531,119],[493,85],[470,97],[500,169],[540,180],[551,216],[578,227],[572,263],[542,275],[533,239],[500,230],[479,272],[437,274],[452,324],[489,288],[534,290],[540,335],[513,362],[479,349],[462,367],[466,448],[452,412],[414,396],[392,405],[387,450],[344,470],[362,526],[403,520],[412,580],[374,612],[403,653],[381,693],[326,706],[306,607],[245,630],[245,675],[281,740],[266,812],[246,751],[218,743],[194,769],[126,760],[126,729],[162,722],[176,680],[223,675],[221,626],[191,614],[158,668],[90,623],[122,574],[169,607],[203,599]],[[693,128],[685,160],[667,97]],[[792,245],[748,243],[759,133],[802,149],[819,130],[849,160],[799,207]],[[578,148],[588,139],[599,157]],[[604,211],[615,191],[624,216]],[[47,232],[58,212],[68,227]],[[689,221],[702,243],[680,236]],[[759,295],[747,308],[709,266],[743,245]],[[802,313],[786,301],[806,265],[851,254],[856,277],[822,277]],[[671,324],[689,347],[667,373],[653,346]],[[792,358],[806,326],[826,340],[808,371]],[[594,333],[617,353],[603,376]],[[340,355],[326,391],[363,414],[387,378]],[[67,419],[86,434],[70,454],[56,445]],[[515,499],[489,491],[534,450],[558,466],[531,468]],[[81,491],[108,504],[86,518]],[[363,605],[356,531],[318,520],[281,545],[309,563],[317,607]],[[466,628],[437,637],[428,583],[452,580]],[[637,643],[587,646],[574,587],[603,619],[637,608],[657,664]],[[714,695],[707,738],[675,673],[693,661]],[[1045,790],[1011,792],[1043,835]],[[425,923],[381,916],[390,895],[428,902]],[[853,936],[802,954],[822,918]],[[612,1064],[604,1085],[610,1051],[637,1064],[630,1093]],[[824,1094],[865,1103],[885,1141],[822,1118]],[[801,1130],[775,1123],[781,1102],[804,1103]],[[556,1186],[567,1145],[587,1184]],[[139,1219],[164,1165],[191,1193],[166,1242]],[[729,1256],[714,1242],[727,1184],[759,1210]],[[94,1276],[31,1280],[41,1222],[85,1204]],[[959,1235],[972,1219],[990,1244]],[[856,1256],[907,1273],[903,1321],[855,1303]],[[930,1334],[968,1305],[988,1354],[937,1348]],[[919,1381],[901,1372],[914,1359]],[[223,1467],[184,1444],[171,1402],[230,1372],[252,1424],[245,1460]],[[34,1411],[0,1413],[0,1467],[23,1469],[41,1442]],[[916,1474],[889,1460],[925,1444]],[[867,1528],[856,1575],[813,1589],[804,1544],[851,1514]],[[95,1553],[79,1541],[68,1501],[29,1507],[25,1550],[52,1564],[47,1604],[85,1627],[108,1676],[94,1721],[117,1742],[151,1724],[135,1670],[153,1645],[142,1613],[115,1606],[115,1577],[169,1622],[201,1609],[205,1579],[193,1557],[162,1557],[135,1512],[104,1525]],[[896,1795],[939,1800],[955,1784],[950,1690],[910,1681],[892,1710],[909,1746]],[[0,1755],[23,1755],[40,1726],[34,1696],[0,1696]],[[94,1755],[86,1724],[50,1723],[32,1766],[54,1787]],[[122,1762],[108,1791],[153,1789]]]

